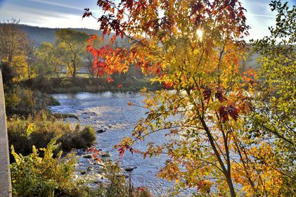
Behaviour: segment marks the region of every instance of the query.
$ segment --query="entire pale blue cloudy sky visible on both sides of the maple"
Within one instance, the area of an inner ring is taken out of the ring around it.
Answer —
[[[275,25],[276,13],[271,12],[270,0],[240,0],[247,9],[247,25],[250,36],[247,39],[261,39],[268,35],[268,27]],[[282,0],[287,1],[287,0]],[[0,0],[0,20],[20,19],[20,23],[39,27],[82,27],[98,30],[94,18],[84,18],[84,8],[90,8],[94,15],[100,12],[96,0]],[[296,0],[288,0],[290,6]]]

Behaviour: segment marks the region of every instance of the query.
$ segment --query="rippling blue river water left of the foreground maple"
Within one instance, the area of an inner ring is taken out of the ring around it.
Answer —
[[[60,106],[51,106],[53,113],[72,113],[79,117],[79,124],[91,125],[94,129],[105,129],[106,132],[97,134],[96,148],[101,148],[111,154],[112,160],[119,160],[122,167],[137,167],[132,172],[134,186],[146,186],[155,196],[167,196],[172,183],[164,179],[157,179],[155,174],[164,165],[166,156],[145,158],[142,155],[124,153],[121,158],[113,146],[119,143],[124,136],[130,136],[136,122],[144,117],[145,108],[128,106],[127,103],[141,105],[143,97],[139,93],[110,92],[52,94],[60,102]],[[162,144],[167,141],[165,133],[151,134],[146,141],[137,144],[134,148],[145,150],[148,141]],[[79,160],[84,163],[84,160]],[[188,192],[180,196],[188,196]]]

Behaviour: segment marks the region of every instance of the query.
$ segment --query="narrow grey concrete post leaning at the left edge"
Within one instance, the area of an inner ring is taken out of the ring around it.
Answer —
[[[11,170],[9,167],[8,135],[6,129],[5,99],[0,70],[0,196],[11,197]]]

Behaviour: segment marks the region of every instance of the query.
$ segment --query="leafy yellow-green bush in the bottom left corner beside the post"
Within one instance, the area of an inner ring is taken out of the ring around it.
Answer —
[[[27,156],[15,153],[11,147],[15,158],[15,163],[11,164],[13,196],[91,196],[91,190],[85,184],[72,179],[75,156],[69,154],[60,158],[60,151],[53,158],[57,148],[53,139],[46,148],[40,149],[44,155],[40,157],[35,146]]]

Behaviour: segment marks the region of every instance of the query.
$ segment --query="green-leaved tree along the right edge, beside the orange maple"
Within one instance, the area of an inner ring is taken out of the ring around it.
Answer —
[[[254,42],[262,63],[259,93],[252,117],[252,134],[264,134],[271,141],[278,167],[285,174],[282,193],[296,192],[296,6],[271,1],[276,11],[276,26],[270,36]]]

